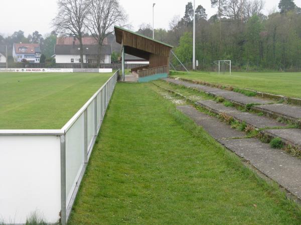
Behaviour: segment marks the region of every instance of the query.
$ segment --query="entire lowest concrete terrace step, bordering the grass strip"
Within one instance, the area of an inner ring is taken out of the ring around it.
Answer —
[[[198,111],[190,105],[177,106],[198,125],[237,155],[248,160],[259,171],[278,182],[286,190],[301,199],[301,160],[256,138],[241,138],[240,131],[217,118]],[[233,136],[240,138],[231,138]]]

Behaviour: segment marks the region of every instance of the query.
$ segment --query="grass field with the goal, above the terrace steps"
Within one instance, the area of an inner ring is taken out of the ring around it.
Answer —
[[[232,85],[288,97],[301,97],[301,72],[171,72],[172,76]]]

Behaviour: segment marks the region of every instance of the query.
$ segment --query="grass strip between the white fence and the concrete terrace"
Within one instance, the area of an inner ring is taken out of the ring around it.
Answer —
[[[118,83],[69,224],[299,224],[301,211],[150,83]]]

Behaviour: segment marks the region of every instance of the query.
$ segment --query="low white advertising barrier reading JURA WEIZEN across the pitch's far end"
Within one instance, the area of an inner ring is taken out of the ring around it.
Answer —
[[[81,71],[82,70],[82,71]],[[95,70],[95,71],[94,71]],[[0,72],[89,72],[89,69],[73,68],[0,68]],[[93,69],[93,72],[112,72],[112,68]]]

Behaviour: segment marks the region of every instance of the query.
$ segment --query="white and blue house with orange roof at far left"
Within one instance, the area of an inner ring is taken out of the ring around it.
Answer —
[[[13,57],[16,62],[26,59],[30,63],[40,63],[40,45],[38,43],[14,43]]]

